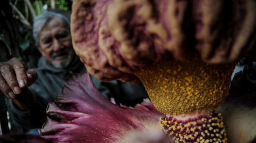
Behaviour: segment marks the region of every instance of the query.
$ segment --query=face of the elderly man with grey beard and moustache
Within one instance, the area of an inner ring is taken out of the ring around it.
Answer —
[[[38,50],[56,68],[67,67],[74,56],[72,39],[60,18],[51,19],[39,33]]]

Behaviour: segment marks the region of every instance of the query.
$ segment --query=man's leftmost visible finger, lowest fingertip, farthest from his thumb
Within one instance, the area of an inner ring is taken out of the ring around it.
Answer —
[[[0,74],[0,90],[4,95],[8,98],[15,98],[16,95],[13,93],[12,89],[10,86],[6,83],[4,77]]]

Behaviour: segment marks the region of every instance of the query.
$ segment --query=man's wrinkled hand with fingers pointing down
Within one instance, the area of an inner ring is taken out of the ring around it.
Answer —
[[[37,73],[28,69],[16,57],[0,62],[0,90],[8,98],[15,98],[37,79]]]

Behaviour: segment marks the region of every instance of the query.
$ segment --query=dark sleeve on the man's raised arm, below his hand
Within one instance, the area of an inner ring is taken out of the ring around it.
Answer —
[[[37,92],[34,91],[34,88],[40,89],[42,86],[40,87],[34,83],[33,88],[29,87],[31,106],[27,111],[20,110],[10,99],[8,100],[7,109],[13,124],[17,128],[41,128],[46,121],[46,107],[48,102],[46,102],[42,95],[38,95]]]

